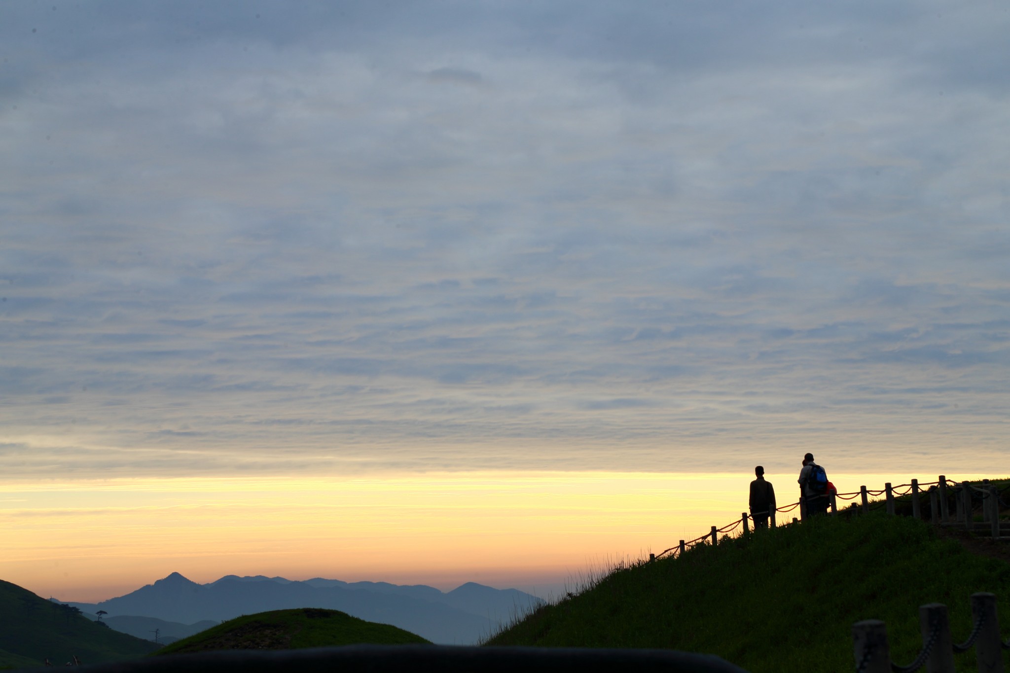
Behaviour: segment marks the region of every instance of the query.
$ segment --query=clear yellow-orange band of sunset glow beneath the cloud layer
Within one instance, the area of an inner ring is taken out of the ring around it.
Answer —
[[[738,519],[751,478],[487,472],[8,484],[0,579],[78,601],[173,571],[197,582],[264,574],[442,589],[577,584]],[[795,500],[795,474],[769,478],[780,504]],[[831,478],[845,491],[881,488],[893,475]]]

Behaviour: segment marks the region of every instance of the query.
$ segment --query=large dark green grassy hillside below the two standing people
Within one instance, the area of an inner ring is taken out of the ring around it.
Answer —
[[[1010,563],[971,554],[913,519],[825,517],[616,570],[487,644],[670,648],[751,673],[846,671],[854,622],[884,620],[893,660],[908,664],[921,643],[918,606],[945,603],[961,642],[976,591],[997,595],[1005,638]],[[958,655],[957,670],[975,671],[974,660]]]

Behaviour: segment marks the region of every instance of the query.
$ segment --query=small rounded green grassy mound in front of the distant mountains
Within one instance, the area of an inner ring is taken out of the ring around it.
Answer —
[[[259,612],[167,645],[157,654],[209,650],[298,650],[336,645],[427,643],[409,631],[366,622],[335,609],[300,607]]]

